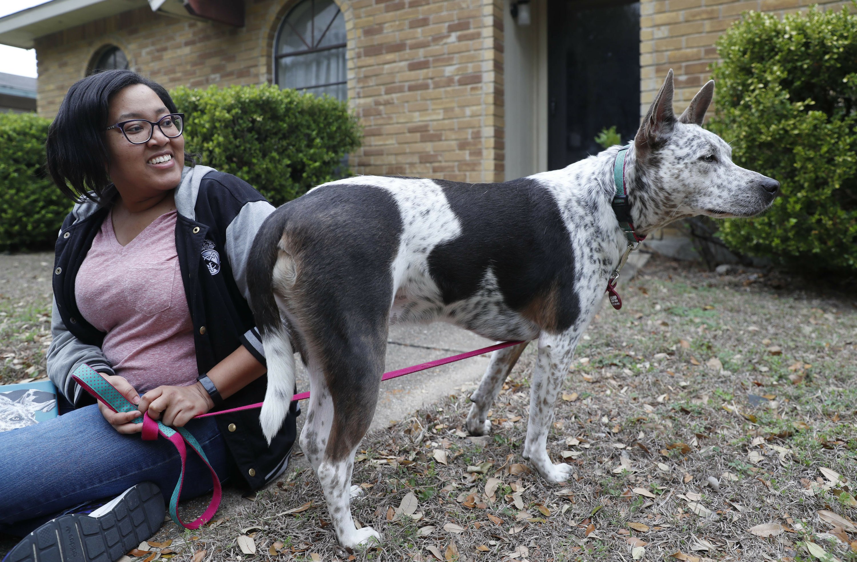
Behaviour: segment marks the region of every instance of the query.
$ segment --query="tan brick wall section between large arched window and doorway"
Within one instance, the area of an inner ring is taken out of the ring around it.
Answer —
[[[501,0],[357,0],[363,173],[503,181]]]

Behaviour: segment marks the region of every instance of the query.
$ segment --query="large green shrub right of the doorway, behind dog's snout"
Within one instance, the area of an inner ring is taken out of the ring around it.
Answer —
[[[750,12],[717,41],[710,129],[782,195],[719,236],[788,266],[857,270],[857,15]]]

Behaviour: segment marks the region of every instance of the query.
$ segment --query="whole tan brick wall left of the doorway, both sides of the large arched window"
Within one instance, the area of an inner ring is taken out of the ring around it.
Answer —
[[[39,113],[53,117],[94,54],[117,45],[168,89],[273,80],[273,42],[294,0],[248,0],[246,25],[135,9],[39,38]],[[503,179],[502,0],[337,0],[365,174]]]

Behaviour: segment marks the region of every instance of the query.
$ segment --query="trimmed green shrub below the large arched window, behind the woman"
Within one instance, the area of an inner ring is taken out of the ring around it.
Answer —
[[[272,85],[178,87],[186,150],[201,164],[249,182],[274,205],[348,175],[346,154],[360,146],[357,117],[345,102]]]

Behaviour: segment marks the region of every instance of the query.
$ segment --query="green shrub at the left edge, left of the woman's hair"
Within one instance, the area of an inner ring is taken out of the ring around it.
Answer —
[[[0,250],[53,246],[72,202],[45,170],[49,119],[0,113]]]

